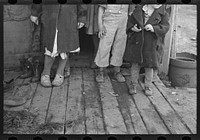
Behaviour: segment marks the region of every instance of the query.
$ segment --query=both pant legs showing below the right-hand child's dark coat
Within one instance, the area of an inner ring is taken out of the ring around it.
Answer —
[[[138,83],[140,65],[133,63],[131,65],[131,81],[133,84]],[[144,84],[146,87],[150,87],[153,79],[153,68],[145,68],[145,81]]]

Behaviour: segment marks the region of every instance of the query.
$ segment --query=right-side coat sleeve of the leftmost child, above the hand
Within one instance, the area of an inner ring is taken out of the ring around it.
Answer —
[[[82,22],[86,24],[87,18],[87,5],[80,4],[78,5],[78,22]]]

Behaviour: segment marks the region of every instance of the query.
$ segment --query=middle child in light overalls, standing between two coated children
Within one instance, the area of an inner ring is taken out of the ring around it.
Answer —
[[[126,25],[129,5],[100,5],[98,13],[99,48],[95,63],[99,67],[97,82],[104,82],[104,68],[109,64],[114,66],[114,76],[118,82],[125,82],[120,72],[126,46]],[[112,56],[110,51],[112,47]],[[109,62],[110,58],[110,62]]]

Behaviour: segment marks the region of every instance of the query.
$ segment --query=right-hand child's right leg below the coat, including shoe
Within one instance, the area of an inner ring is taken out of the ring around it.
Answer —
[[[145,68],[145,94],[152,95],[151,84],[153,80],[153,68]]]

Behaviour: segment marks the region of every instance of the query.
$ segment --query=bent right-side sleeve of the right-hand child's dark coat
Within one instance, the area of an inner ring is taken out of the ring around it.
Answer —
[[[169,15],[167,12],[162,16],[161,22],[158,25],[153,25],[154,32],[157,37],[163,37],[169,30]]]

